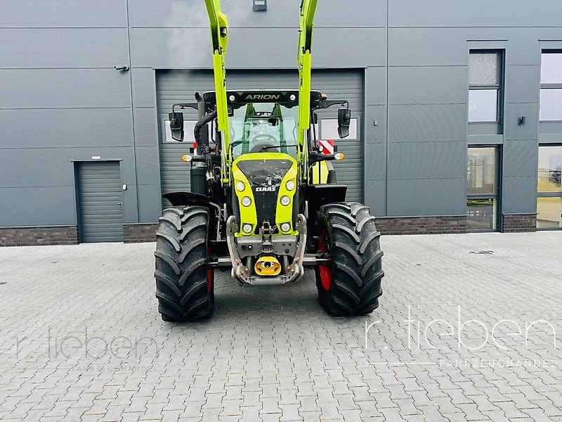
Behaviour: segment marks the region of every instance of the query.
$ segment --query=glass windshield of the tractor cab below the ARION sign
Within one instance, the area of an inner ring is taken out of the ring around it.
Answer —
[[[287,153],[296,158],[299,108],[279,103],[248,103],[230,122],[233,158],[248,153]]]

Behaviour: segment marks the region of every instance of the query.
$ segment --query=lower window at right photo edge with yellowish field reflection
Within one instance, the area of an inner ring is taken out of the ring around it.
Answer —
[[[562,229],[562,145],[539,147],[537,229]]]

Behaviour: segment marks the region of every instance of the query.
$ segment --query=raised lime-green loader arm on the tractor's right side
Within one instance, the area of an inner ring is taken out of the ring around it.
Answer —
[[[318,0],[301,0],[299,51],[299,160],[303,165],[303,179],[308,179],[306,131],[311,127],[311,68],[312,30]]]

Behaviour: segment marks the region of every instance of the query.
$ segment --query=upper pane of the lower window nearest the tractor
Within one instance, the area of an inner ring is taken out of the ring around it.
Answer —
[[[466,186],[469,195],[495,195],[496,148],[469,148]]]

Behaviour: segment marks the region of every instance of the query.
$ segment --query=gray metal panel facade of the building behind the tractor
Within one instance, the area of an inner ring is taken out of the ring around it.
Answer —
[[[223,0],[228,68],[295,68],[299,3]],[[538,122],[540,50],[562,48],[561,15],[559,0],[319,1],[313,65],[365,72],[375,215],[464,215],[467,142],[502,144],[502,212],[536,211],[538,140],[562,139]],[[124,222],[156,222],[155,70],[209,68],[206,25],[202,0],[2,1],[0,226],[76,224],[72,160],[93,155],[122,160]],[[505,49],[500,138],[468,136],[470,48]]]

